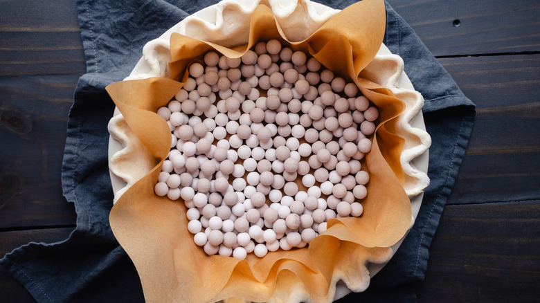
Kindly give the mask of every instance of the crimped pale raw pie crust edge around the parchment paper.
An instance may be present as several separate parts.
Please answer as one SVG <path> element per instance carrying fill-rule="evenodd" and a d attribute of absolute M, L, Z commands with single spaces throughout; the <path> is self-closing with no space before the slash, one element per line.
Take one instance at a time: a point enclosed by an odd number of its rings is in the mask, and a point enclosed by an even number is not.
<path fill-rule="evenodd" d="M 170 76 L 170 71 L 167 68 L 167 63 L 171 60 L 168 54 L 170 47 L 168 37 L 172 33 L 181 33 L 190 37 L 197 36 L 195 38 L 200 37 L 200 39 L 204 39 L 205 41 L 212 41 L 212 36 L 218 37 L 214 39 L 214 43 L 225 44 L 224 46 L 226 47 L 242 44 L 242 40 L 235 39 L 240 37 L 240 35 L 237 35 L 237 31 L 244 31 L 245 28 L 235 26 L 232 29 L 227 29 L 228 23 L 226 20 L 231 18 L 235 20 L 251 19 L 251 13 L 253 13 L 257 4 L 240 3 L 239 1 L 222 1 L 216 6 L 206 8 L 192 15 L 192 17 L 186 18 L 177 24 L 177 26 L 168 30 L 159 39 L 145 46 L 143 58 L 138 62 L 134 71 L 132 71 L 132 74 L 126 80 Z M 277 22 L 282 26 L 283 32 L 286 33 L 285 35 L 287 35 L 287 29 L 291 29 L 291 33 L 289 34 L 291 36 L 290 39 L 296 41 L 305 39 L 324 24 L 325 21 L 339 12 L 318 3 L 308 1 L 300 1 L 298 4 L 270 1 L 270 3 L 265 4 L 272 8 Z M 300 13 L 303 13 L 303 15 Z M 303 17 L 291 17 L 298 14 Z M 280 23 L 280 20 L 282 23 Z M 308 24 L 305 32 L 300 33 L 302 35 L 297 33 L 296 30 L 292 30 L 295 26 L 298 26 L 298 22 Z M 242 24 L 242 22 L 239 23 Z M 201 37 L 201 35 L 206 36 Z M 231 37 L 235 37 L 235 39 L 231 39 Z M 289 38 L 288 35 L 287 37 Z M 390 89 L 394 95 L 406 104 L 404 112 L 398 118 L 399 122 L 397 122 L 397 125 L 399 127 L 396 129 L 396 134 L 405 139 L 403 152 L 399 160 L 404 171 L 404 191 L 411 199 L 411 214 L 414 219 L 422 203 L 422 191 L 429 184 L 426 171 L 428 162 L 427 149 L 429 148 L 431 139 L 425 131 L 422 112 L 420 111 L 423 105 L 422 96 L 414 91 L 411 82 L 404 74 L 402 60 L 395 55 L 391 55 L 388 48 L 384 45 L 381 45 L 375 58 L 363 69 L 360 76 L 366 77 L 371 82 Z M 129 129 L 123 116 L 118 113 L 119 111 L 116 111 L 114 118 L 111 119 L 109 124 L 109 131 L 111 133 L 109 144 L 109 156 L 111 160 L 109 161 L 109 167 L 111 169 L 111 182 L 115 192 L 115 201 L 118 201 L 120 196 L 129 190 L 129 187 L 132 187 L 138 180 L 148 174 L 156 165 L 156 162 L 152 160 L 147 162 L 134 160 L 151 159 L 152 157 L 149 156 L 148 150 Z M 411 226 L 413 221 L 411 220 Z M 377 260 L 378 263 L 368 264 L 368 275 L 375 275 L 384 266 L 403 239 L 404 237 L 391 246 L 390 254 L 387 254 L 383 260 Z M 361 291 L 364 286 L 367 287 L 363 285 L 353 290 Z M 341 297 L 348 291 L 345 286 L 338 283 L 334 298 Z"/>

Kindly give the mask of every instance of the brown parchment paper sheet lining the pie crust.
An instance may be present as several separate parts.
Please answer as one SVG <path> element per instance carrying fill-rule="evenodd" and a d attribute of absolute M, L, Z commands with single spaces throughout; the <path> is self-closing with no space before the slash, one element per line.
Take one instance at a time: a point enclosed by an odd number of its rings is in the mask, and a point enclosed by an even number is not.
<path fill-rule="evenodd" d="M 384 1 L 364 0 L 337 13 L 303 41 L 287 39 L 265 3 L 251 15 L 249 41 L 224 46 L 172 34 L 168 77 L 116 82 L 107 91 L 138 138 L 135 159 L 157 163 L 129 187 L 111 210 L 111 228 L 132 258 L 141 277 L 147 302 L 331 302 L 335 285 L 343 280 L 352 291 L 369 284 L 366 262 L 388 261 L 389 248 L 411 224 L 411 205 L 404 190 L 401 163 L 405 140 L 398 136 L 398 117 L 406 108 L 391 89 L 361 71 L 372 62 L 385 30 Z M 359 218 L 331 219 L 328 229 L 307 248 L 269 252 L 246 260 L 208 256 L 187 230 L 186 206 L 154 194 L 153 188 L 170 149 L 170 130 L 156 110 L 182 86 L 186 68 L 200 62 L 208 50 L 240 57 L 254 44 L 280 39 L 294 50 L 312 54 L 337 75 L 357 83 L 379 108 L 372 152 L 363 167 L 370 174 L 368 196 L 361 201 Z"/>

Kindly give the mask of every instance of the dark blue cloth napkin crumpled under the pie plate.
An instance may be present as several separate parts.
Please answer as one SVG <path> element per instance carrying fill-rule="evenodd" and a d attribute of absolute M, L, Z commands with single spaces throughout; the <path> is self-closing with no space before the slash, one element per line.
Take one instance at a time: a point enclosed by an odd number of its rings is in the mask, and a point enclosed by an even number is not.
<path fill-rule="evenodd" d="M 352 0 L 318 1 L 343 9 Z M 113 194 L 107 167 L 107 123 L 114 104 L 105 86 L 129 75 L 147 41 L 181 19 L 217 1 L 77 1 L 87 74 L 75 90 L 69 113 L 62 187 L 75 203 L 77 227 L 54 244 L 30 243 L 10 252 L 0 264 L 38 302 L 143 302 L 132 261 L 109 226 Z M 415 302 L 414 283 L 423 279 L 429 245 L 453 187 L 474 122 L 474 104 L 438 64 L 413 30 L 386 4 L 385 44 L 405 62 L 405 71 L 424 95 L 424 120 L 433 143 L 431 185 L 413 229 L 393 259 L 365 293 L 339 302 Z"/>

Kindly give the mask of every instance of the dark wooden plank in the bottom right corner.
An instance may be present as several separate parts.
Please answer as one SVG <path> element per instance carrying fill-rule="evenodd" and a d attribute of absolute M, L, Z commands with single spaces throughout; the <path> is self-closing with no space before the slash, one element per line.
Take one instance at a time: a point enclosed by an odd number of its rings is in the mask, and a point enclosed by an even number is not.
<path fill-rule="evenodd" d="M 418 302 L 538 302 L 539 202 L 444 208 Z"/>

